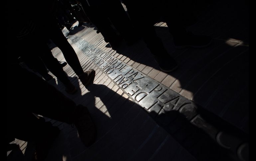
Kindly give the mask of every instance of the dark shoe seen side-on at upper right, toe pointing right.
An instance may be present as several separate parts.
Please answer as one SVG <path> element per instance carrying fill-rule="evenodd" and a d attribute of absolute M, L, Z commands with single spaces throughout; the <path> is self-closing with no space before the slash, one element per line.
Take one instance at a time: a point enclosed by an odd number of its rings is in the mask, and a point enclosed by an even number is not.
<path fill-rule="evenodd" d="M 192 32 L 187 32 L 173 40 L 175 48 L 178 49 L 185 47 L 202 48 L 208 46 L 211 43 L 212 38 L 209 36 L 194 35 Z"/>

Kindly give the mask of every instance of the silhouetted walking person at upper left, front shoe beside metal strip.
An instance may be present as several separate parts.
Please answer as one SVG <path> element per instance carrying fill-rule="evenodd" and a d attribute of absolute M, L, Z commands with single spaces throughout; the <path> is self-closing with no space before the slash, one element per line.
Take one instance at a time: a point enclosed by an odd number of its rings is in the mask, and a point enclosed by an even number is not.
<path fill-rule="evenodd" d="M 52 55 L 47 46 L 48 39 L 62 50 L 65 60 L 84 86 L 91 82 L 95 71 L 93 69 L 83 71 L 74 49 L 59 28 L 54 17 L 56 1 L 45 1 L 40 3 L 40 7 L 34 5 L 35 3 L 31 1 L 17 1 L 12 5 L 14 12 L 8 14 L 9 19 L 18 17 L 19 24 L 18 28 L 10 26 L 13 40 L 16 39 L 17 48 L 21 50 L 22 57 L 40 56 L 46 67 L 64 84 L 65 91 L 73 94 L 77 90 L 69 81 L 59 61 Z M 28 45 L 30 49 L 27 48 Z"/>

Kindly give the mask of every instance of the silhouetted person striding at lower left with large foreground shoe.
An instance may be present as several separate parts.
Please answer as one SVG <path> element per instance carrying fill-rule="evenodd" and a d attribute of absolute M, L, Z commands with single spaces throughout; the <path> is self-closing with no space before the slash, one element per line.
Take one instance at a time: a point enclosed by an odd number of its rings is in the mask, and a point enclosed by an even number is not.
<path fill-rule="evenodd" d="M 35 142 L 36 150 L 34 159 L 43 161 L 47 157 L 60 130 L 45 119 L 38 119 L 34 114 L 74 124 L 85 146 L 90 146 L 95 141 L 96 128 L 86 107 L 76 106 L 72 100 L 34 73 L 22 68 L 13 60 L 8 61 L 7 145 L 14 138 L 32 141 Z M 16 74 L 12 73 L 13 70 Z"/>

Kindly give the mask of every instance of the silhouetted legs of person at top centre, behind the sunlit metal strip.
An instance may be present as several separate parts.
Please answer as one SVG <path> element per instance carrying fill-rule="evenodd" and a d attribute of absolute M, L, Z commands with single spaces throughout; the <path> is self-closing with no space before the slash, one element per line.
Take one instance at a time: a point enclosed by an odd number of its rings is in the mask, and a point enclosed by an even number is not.
<path fill-rule="evenodd" d="M 134 28 L 119 0 L 79 0 L 85 14 L 113 49 L 124 39 L 128 45 L 135 40 Z M 114 28 L 113 28 L 114 27 Z"/>

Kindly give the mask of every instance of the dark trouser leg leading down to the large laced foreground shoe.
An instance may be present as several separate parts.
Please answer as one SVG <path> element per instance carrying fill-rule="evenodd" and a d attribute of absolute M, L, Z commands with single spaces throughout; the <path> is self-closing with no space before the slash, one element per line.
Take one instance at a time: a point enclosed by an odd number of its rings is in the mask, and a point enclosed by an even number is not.
<path fill-rule="evenodd" d="M 9 72 L 12 70 L 15 70 L 15 75 Z M 76 105 L 54 86 L 18 65 L 9 68 L 7 74 L 7 97 L 15 99 L 14 109 L 72 123 Z"/>

